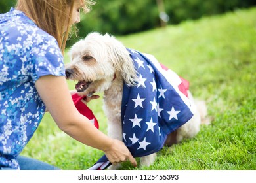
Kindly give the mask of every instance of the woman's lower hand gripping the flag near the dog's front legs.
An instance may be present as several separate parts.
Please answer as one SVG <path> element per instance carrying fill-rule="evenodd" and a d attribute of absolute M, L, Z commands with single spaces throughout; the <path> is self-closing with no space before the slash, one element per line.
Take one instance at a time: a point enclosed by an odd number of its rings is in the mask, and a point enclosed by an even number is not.
<path fill-rule="evenodd" d="M 137 162 L 135 158 L 131 155 L 131 152 L 121 141 L 113 139 L 112 145 L 109 150 L 104 151 L 108 160 L 113 164 L 121 163 L 129 160 L 133 167 L 137 167 Z"/>

